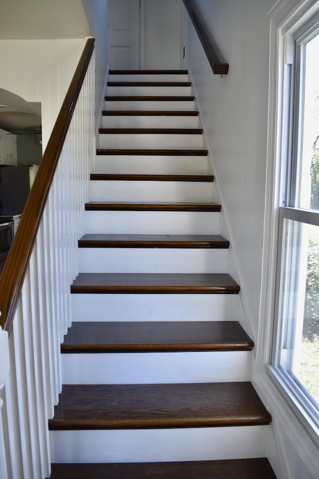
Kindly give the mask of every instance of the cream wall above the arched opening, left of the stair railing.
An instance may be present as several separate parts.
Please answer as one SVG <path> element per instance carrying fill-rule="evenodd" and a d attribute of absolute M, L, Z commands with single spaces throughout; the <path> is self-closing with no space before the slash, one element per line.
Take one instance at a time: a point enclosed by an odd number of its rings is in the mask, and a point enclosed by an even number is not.
<path fill-rule="evenodd" d="M 1 88 L 41 102 L 43 152 L 84 44 L 84 39 L 0 40 Z"/>

